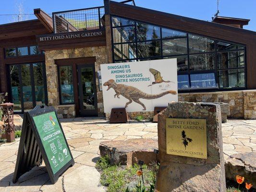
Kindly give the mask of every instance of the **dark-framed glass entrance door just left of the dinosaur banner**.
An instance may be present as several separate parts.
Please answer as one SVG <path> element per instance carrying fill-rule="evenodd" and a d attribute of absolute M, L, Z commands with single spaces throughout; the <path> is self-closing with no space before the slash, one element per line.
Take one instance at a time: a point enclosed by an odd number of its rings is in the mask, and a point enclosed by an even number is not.
<path fill-rule="evenodd" d="M 98 116 L 94 65 L 77 65 L 81 116 Z"/>

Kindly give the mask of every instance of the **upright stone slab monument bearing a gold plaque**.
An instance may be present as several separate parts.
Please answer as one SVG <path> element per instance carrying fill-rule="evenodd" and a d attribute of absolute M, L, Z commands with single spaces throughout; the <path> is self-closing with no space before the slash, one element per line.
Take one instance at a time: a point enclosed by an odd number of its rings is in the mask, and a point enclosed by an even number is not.
<path fill-rule="evenodd" d="M 156 192 L 225 192 L 221 111 L 213 103 L 171 102 L 158 115 Z"/>

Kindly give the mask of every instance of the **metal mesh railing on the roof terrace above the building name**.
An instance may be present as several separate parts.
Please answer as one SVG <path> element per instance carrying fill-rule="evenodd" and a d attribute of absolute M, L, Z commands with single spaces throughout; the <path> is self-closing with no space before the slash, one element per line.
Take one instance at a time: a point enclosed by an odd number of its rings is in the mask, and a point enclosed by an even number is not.
<path fill-rule="evenodd" d="M 85 31 L 102 28 L 101 18 L 104 7 L 94 7 L 65 12 L 53 12 L 53 26 L 55 33 Z"/>

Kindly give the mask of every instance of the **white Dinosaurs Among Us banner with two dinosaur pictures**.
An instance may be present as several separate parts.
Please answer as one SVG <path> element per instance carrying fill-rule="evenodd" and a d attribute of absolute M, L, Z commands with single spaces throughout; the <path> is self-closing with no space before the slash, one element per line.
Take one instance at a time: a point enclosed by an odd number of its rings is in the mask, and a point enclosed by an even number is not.
<path fill-rule="evenodd" d="M 148 60 L 101 64 L 104 112 L 153 111 L 178 101 L 177 60 Z"/>

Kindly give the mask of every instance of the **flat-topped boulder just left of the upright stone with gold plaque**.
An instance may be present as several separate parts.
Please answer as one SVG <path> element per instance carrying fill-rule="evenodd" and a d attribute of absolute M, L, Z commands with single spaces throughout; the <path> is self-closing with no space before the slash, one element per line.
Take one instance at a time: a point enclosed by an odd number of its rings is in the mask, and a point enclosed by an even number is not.
<path fill-rule="evenodd" d="M 154 149 L 158 149 L 158 141 L 155 139 L 105 141 L 99 144 L 100 156 L 108 155 L 112 165 L 131 166 L 139 160 L 148 165 L 157 161 Z"/>

